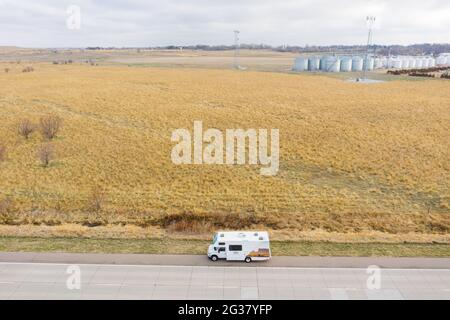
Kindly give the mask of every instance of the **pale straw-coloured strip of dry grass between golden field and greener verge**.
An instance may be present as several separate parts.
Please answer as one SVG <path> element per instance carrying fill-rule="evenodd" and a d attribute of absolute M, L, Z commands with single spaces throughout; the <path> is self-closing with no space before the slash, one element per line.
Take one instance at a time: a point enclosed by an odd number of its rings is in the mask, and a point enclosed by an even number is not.
<path fill-rule="evenodd" d="M 273 241 L 307 241 L 332 243 L 442 243 L 450 244 L 450 234 L 390 234 L 379 231 L 359 233 L 327 232 L 323 230 L 269 230 Z M 201 233 L 173 233 L 157 226 L 146 228 L 135 225 L 107 225 L 91 228 L 79 224 L 59 226 L 46 225 L 0 225 L 0 238 L 80 238 L 80 239 L 176 239 L 210 241 L 211 230 Z"/>

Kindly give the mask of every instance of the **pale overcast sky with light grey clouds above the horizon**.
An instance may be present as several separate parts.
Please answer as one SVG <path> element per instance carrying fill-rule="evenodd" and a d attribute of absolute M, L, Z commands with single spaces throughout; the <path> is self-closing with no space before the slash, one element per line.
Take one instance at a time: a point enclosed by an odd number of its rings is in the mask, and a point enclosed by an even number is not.
<path fill-rule="evenodd" d="M 367 15 L 377 44 L 450 43 L 449 0 L 0 0 L 0 45 L 232 44 L 235 29 L 242 43 L 363 44 Z"/>

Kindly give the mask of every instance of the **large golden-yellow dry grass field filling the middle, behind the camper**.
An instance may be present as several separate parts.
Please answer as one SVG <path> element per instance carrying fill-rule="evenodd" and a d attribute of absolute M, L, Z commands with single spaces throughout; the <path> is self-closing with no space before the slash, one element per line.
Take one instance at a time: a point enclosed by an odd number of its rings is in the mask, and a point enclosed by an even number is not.
<path fill-rule="evenodd" d="M 23 64 L 24 65 L 24 64 Z M 450 230 L 448 81 L 370 86 L 226 70 L 0 64 L 3 223 L 175 224 L 217 214 L 278 230 Z M 0 70 L 1 70 L 0 69 Z M 17 134 L 20 119 L 63 119 L 56 161 Z M 171 132 L 278 128 L 278 176 L 250 166 L 175 166 Z M 91 213 L 92 190 L 105 204 Z M 5 210 L 6 212 L 6 210 Z M 167 214 L 176 215 L 174 219 Z M 199 217 L 198 219 L 192 217 Z M 178 219 L 178 220 L 177 220 Z M 89 224 L 89 223 L 88 223 Z"/>

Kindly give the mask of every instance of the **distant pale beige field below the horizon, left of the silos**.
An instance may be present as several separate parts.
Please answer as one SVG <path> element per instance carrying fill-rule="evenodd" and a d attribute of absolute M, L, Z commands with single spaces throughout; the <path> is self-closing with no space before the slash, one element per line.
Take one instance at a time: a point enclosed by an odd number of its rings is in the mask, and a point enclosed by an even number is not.
<path fill-rule="evenodd" d="M 249 70 L 286 72 L 297 54 L 270 50 L 241 50 L 239 63 Z M 103 66 L 230 69 L 234 51 L 202 50 L 49 50 L 0 47 L 0 61 L 93 61 Z"/>

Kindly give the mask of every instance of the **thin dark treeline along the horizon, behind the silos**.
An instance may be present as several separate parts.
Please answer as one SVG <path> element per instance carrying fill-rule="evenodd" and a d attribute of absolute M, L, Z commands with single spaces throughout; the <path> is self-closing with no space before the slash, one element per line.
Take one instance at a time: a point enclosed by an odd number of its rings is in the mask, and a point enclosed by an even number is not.
<path fill-rule="evenodd" d="M 241 49 L 250 50 L 273 50 L 277 52 L 329 52 L 329 53 L 361 53 L 366 51 L 363 45 L 333 45 L 333 46 L 270 46 L 266 44 L 241 44 Z M 203 51 L 225 51 L 233 50 L 234 45 L 191 45 L 191 46 L 160 46 L 160 47 L 140 47 L 140 48 L 115 48 L 115 47 L 88 47 L 87 50 L 120 50 L 120 49 L 136 49 L 136 50 L 203 50 Z M 373 45 L 371 52 L 379 55 L 438 55 L 444 52 L 450 52 L 450 43 L 445 44 L 413 44 L 408 46 L 401 45 Z"/>

